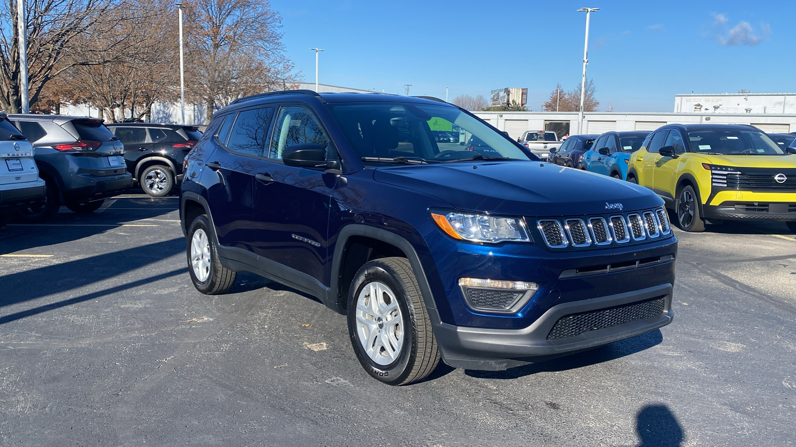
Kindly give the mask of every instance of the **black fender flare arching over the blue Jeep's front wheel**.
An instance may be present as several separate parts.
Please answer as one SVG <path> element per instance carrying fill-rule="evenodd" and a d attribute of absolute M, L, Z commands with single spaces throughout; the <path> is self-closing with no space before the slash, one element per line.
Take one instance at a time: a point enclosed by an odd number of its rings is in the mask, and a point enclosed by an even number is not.
<path fill-rule="evenodd" d="M 343 249 L 345 249 L 345 244 L 352 236 L 365 236 L 377 239 L 392 244 L 398 247 L 400 251 L 403 251 L 409 263 L 412 265 L 412 270 L 417 278 L 417 284 L 420 286 L 420 292 L 423 293 L 423 302 L 426 305 L 426 309 L 428 309 L 431 321 L 433 322 L 435 319 L 439 321 L 439 314 L 436 310 L 437 305 L 434 301 L 434 296 L 431 294 L 431 286 L 428 284 L 425 270 L 423 270 L 423 265 L 420 263 L 420 258 L 417 255 L 417 251 L 415 251 L 415 247 L 412 247 L 412 243 L 409 243 L 407 239 L 404 239 L 400 235 L 396 235 L 392 231 L 384 230 L 384 228 L 370 227 L 369 225 L 361 225 L 359 223 L 350 223 L 342 227 L 338 234 L 338 239 L 334 247 L 334 257 L 332 258 L 330 301 L 337 302 L 338 305 L 342 306 L 342 309 L 345 309 L 345 300 L 348 299 L 348 295 L 345 294 L 345 296 L 341 297 L 340 290 L 338 289 L 340 288 L 339 282 Z M 338 300 L 338 297 L 341 297 L 342 301 Z"/>

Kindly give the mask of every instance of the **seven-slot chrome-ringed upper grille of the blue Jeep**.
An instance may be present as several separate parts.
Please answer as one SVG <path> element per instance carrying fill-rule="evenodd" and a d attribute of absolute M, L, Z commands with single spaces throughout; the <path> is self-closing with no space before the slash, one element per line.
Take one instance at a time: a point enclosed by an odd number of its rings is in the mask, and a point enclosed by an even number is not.
<path fill-rule="evenodd" d="M 556 249 L 641 243 L 672 234 L 664 208 L 613 216 L 540 219 L 537 229 L 544 243 Z"/>

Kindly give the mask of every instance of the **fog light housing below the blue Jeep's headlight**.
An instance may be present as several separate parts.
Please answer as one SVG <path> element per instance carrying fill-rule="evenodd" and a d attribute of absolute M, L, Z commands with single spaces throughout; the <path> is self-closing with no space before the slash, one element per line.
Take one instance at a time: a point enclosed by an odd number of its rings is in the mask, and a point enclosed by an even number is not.
<path fill-rule="evenodd" d="M 489 313 L 517 313 L 539 290 L 535 282 L 459 278 L 458 286 L 470 309 Z"/>

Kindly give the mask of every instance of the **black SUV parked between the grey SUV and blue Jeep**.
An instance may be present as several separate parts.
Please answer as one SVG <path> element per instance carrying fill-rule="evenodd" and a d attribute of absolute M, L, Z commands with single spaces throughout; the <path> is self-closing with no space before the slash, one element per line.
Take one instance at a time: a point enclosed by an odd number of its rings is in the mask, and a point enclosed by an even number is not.
<path fill-rule="evenodd" d="M 141 189 L 154 197 L 166 196 L 182 180 L 182 161 L 199 138 L 197 126 L 108 123 L 107 128 L 124 144 L 127 171 Z"/>

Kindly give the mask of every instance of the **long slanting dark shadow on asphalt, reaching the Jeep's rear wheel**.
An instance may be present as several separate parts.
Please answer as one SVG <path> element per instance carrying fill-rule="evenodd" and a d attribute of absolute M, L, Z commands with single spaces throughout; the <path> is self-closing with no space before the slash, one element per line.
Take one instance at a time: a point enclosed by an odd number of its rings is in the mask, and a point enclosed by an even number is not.
<path fill-rule="evenodd" d="M 125 250 L 113 251 L 103 255 L 61 262 L 51 266 L 43 266 L 33 270 L 6 274 L 0 276 L 0 283 L 2 283 L 3 290 L 2 296 L 0 296 L 0 308 L 24 301 L 35 300 L 40 297 L 46 297 L 54 293 L 62 293 L 68 290 L 80 290 L 96 282 L 119 277 L 131 270 L 150 266 L 154 262 L 184 252 L 185 239 L 180 237 L 158 243 L 140 245 Z M 97 299 L 122 290 L 143 286 L 163 278 L 185 274 L 187 271 L 187 267 L 183 266 L 160 274 L 154 274 L 150 277 L 139 279 L 138 281 L 123 282 L 123 284 L 119 284 L 118 286 L 103 287 L 102 290 L 96 292 L 84 293 L 68 300 L 41 305 L 33 309 L 0 317 L 0 324 L 72 305 L 81 301 Z"/>

